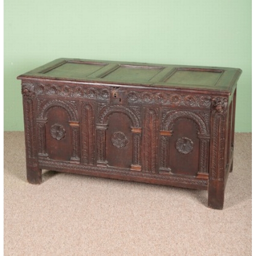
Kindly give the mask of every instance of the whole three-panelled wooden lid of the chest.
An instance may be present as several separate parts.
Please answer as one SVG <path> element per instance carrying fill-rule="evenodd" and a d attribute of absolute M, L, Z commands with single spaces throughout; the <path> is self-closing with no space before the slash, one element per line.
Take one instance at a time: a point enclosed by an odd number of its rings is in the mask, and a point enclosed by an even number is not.
<path fill-rule="evenodd" d="M 234 68 L 60 58 L 17 78 L 231 93 L 241 73 L 240 69 Z"/>

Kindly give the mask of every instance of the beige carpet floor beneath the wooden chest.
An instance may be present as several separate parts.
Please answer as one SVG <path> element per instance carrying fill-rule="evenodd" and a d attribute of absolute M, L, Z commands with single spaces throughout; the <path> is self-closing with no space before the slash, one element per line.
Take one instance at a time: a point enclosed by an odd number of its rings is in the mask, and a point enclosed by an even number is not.
<path fill-rule="evenodd" d="M 4 255 L 251 255 L 251 134 L 236 133 L 223 210 L 207 191 L 45 172 L 4 134 Z"/>

